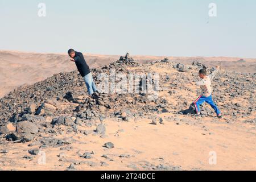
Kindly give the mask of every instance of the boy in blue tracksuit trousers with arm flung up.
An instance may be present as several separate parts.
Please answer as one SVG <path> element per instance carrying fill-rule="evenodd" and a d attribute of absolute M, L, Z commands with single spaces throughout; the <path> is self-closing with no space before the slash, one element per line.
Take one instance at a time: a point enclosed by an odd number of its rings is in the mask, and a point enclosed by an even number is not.
<path fill-rule="evenodd" d="M 217 117 L 222 118 L 221 111 L 218 109 L 218 107 L 216 106 L 216 104 L 214 104 L 212 100 L 212 82 L 211 81 L 216 76 L 219 69 L 220 67 L 217 66 L 216 69 L 208 76 L 207 76 L 206 69 L 200 69 L 199 71 L 199 77 L 202 80 L 199 82 L 196 82 L 196 85 L 201 86 L 202 92 L 201 92 L 201 96 L 199 96 L 199 98 L 197 98 L 197 100 L 193 102 L 193 104 L 196 107 L 197 115 L 200 115 L 200 105 L 204 104 L 204 102 L 207 102 L 207 104 L 209 104 L 214 109 L 215 113 L 217 114 Z"/>

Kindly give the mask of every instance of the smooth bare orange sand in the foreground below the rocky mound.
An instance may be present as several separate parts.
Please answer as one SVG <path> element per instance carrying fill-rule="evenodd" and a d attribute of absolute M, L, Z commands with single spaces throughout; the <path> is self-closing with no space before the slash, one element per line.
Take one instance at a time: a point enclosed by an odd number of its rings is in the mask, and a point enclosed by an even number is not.
<path fill-rule="evenodd" d="M 170 115 L 168 115 L 170 116 Z M 28 150 L 37 148 L 25 144 L 10 144 L 8 154 L 1 154 L 5 170 L 65 170 L 71 163 L 94 162 L 96 166 L 80 164 L 79 170 L 143 170 L 145 164 L 180 166 L 183 170 L 255 170 L 255 126 L 241 123 L 225 123 L 208 118 L 189 123 L 166 121 L 164 125 L 151 125 L 149 119 L 133 123 L 105 121 L 107 137 L 94 135 L 70 135 L 76 142 L 71 151 L 46 148 L 46 164 L 40 164 L 40 155 L 23 159 Z M 64 136 L 62 136 L 64 137 Z M 67 137 L 67 135 L 65 135 Z M 102 147 L 113 142 L 114 148 Z M 4 149 L 0 146 L 0 150 Z M 77 152 L 94 152 L 92 159 L 80 158 Z M 209 164 L 210 152 L 216 152 L 217 164 Z M 64 152 L 64 157 L 59 154 Z M 102 158 L 102 155 L 110 159 Z M 130 155 L 120 158 L 120 155 Z M 113 160 L 113 161 L 112 161 Z M 109 166 L 100 166 L 101 162 Z"/>

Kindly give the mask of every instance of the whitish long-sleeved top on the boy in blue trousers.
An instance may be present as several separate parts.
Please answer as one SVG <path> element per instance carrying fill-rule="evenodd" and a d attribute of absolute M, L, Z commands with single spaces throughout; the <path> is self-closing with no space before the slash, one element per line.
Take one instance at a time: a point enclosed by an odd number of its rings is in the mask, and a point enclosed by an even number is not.
<path fill-rule="evenodd" d="M 205 77 L 199 82 L 196 82 L 196 85 L 201 86 L 201 96 L 209 97 L 212 94 L 212 80 L 217 75 L 218 69 L 215 69 L 210 75 Z"/>

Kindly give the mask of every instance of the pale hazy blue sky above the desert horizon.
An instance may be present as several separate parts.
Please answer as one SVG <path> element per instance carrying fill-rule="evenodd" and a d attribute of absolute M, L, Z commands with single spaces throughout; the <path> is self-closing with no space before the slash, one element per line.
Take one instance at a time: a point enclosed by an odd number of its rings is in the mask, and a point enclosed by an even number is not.
<path fill-rule="evenodd" d="M 255 0 L 0 0 L 0 20 L 0 49 L 256 57 Z"/>

